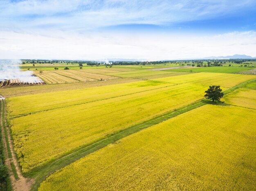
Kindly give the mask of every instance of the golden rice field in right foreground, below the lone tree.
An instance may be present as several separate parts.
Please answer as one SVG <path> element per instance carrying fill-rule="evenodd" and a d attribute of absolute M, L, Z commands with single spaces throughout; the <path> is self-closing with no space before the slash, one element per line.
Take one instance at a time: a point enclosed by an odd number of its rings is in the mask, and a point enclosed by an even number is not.
<path fill-rule="evenodd" d="M 72 163 L 39 191 L 255 190 L 255 124 L 255 110 L 204 105 Z"/>

